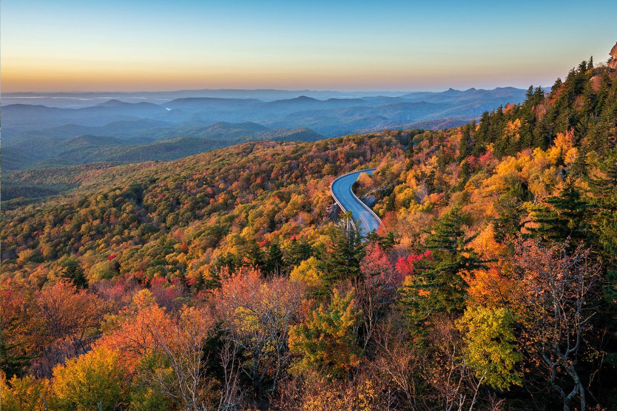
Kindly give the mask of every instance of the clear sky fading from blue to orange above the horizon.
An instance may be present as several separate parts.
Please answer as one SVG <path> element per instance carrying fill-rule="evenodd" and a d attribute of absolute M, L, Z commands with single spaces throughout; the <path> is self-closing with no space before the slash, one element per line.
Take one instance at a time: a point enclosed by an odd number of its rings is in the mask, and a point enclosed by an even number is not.
<path fill-rule="evenodd" d="M 617 41 L 617 1 L 3 0 L 16 91 L 550 86 Z"/>

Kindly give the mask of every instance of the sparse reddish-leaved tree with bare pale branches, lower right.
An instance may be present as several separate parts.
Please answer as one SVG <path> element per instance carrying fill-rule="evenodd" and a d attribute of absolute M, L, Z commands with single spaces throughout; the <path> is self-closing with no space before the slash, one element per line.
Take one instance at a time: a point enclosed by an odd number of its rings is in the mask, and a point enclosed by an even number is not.
<path fill-rule="evenodd" d="M 523 344 L 569 411 L 577 398 L 587 404 L 582 372 L 592 366 L 584 347 L 597 311 L 600 266 L 589 249 L 566 244 L 543 246 L 528 240 L 511 258 L 517 280 L 515 311 L 523 324 Z M 584 366 L 585 365 L 585 366 Z M 594 372 L 590 370 L 589 372 Z"/>

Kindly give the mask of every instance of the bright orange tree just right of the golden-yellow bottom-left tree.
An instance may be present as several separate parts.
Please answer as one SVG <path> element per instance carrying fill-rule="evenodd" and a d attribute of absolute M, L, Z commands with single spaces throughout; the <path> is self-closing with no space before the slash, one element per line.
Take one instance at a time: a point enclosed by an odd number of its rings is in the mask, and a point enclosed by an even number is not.
<path fill-rule="evenodd" d="M 171 315 L 149 290 L 135 294 L 131 306 L 115 318 L 97 346 L 122 352 L 120 368 L 170 404 L 189 411 L 207 409 L 212 391 L 204 346 L 214 319 L 205 309 L 183 307 Z M 144 393 L 139 393 L 142 396 Z"/>

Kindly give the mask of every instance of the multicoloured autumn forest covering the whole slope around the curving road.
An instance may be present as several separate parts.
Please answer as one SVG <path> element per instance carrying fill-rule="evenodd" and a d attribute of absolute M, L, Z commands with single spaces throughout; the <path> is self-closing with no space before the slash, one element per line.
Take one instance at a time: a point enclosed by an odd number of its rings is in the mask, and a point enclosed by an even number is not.
<path fill-rule="evenodd" d="M 616 135 L 590 59 L 459 128 L 31 172 L 70 190 L 2 203 L 2 409 L 615 410 Z"/>

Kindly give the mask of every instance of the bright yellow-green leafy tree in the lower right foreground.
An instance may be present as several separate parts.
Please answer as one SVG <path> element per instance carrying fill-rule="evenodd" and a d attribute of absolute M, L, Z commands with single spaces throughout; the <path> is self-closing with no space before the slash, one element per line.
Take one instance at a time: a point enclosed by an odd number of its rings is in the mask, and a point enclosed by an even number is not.
<path fill-rule="evenodd" d="M 515 370 L 523 356 L 516 346 L 514 322 L 508 309 L 470 306 L 457 323 L 464 335 L 463 355 L 467 364 L 477 378 L 495 389 L 522 385 L 522 373 Z"/>

